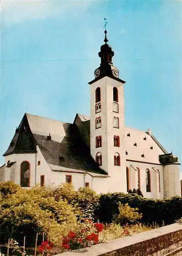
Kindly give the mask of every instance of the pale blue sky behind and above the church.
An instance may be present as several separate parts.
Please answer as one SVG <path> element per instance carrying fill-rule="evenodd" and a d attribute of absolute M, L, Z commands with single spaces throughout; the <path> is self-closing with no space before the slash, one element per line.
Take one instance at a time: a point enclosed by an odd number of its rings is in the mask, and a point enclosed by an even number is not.
<path fill-rule="evenodd" d="M 89 115 L 89 85 L 107 35 L 125 84 L 125 125 L 181 158 L 180 1 L 1 3 L 1 155 L 27 112 Z M 4 163 L 3 157 L 1 164 Z"/>

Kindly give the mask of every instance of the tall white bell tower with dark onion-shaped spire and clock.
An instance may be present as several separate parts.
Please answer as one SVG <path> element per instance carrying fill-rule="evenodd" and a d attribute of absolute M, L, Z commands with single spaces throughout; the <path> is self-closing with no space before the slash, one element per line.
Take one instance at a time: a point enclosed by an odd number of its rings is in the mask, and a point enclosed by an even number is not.
<path fill-rule="evenodd" d="M 124 140 L 124 83 L 113 66 L 114 52 L 107 44 L 101 46 L 100 67 L 90 81 L 90 152 L 110 176 L 110 192 L 126 191 L 126 156 Z"/>

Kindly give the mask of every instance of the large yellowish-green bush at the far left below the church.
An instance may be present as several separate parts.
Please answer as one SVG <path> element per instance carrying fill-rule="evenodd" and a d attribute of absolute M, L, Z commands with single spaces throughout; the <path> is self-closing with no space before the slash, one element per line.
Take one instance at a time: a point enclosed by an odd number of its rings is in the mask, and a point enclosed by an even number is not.
<path fill-rule="evenodd" d="M 0 200 L 0 240 L 7 242 L 12 238 L 22 244 L 26 236 L 26 245 L 34 245 L 37 232 L 44 232 L 46 238 L 50 231 L 52 242 L 59 243 L 61 236 L 77 224 L 77 210 L 49 194 L 50 189 L 45 187 L 20 188 L 16 194 Z"/>

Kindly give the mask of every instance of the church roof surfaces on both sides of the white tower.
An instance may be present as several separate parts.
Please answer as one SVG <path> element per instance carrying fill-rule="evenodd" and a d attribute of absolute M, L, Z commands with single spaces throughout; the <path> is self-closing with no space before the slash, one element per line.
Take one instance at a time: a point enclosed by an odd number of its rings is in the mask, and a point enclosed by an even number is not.
<path fill-rule="evenodd" d="M 85 115 L 77 114 L 72 124 L 26 113 L 4 155 L 33 153 L 38 145 L 55 171 L 86 171 L 108 177 L 90 155 L 89 133 L 89 117 Z M 158 156 L 167 153 L 153 135 L 129 127 L 125 127 L 125 144 L 127 160 L 160 164 Z"/>

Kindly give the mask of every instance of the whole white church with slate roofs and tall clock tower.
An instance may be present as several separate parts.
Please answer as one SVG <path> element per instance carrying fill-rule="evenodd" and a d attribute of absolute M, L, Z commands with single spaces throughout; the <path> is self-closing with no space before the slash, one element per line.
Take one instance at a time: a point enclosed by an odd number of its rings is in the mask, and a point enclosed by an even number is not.
<path fill-rule="evenodd" d="M 76 114 L 65 123 L 25 113 L 4 153 L 0 182 L 22 187 L 72 182 L 75 189 L 127 193 L 140 188 L 144 197 L 180 196 L 179 163 L 150 129 L 125 127 L 124 84 L 107 44 L 90 86 L 90 117 Z"/>

